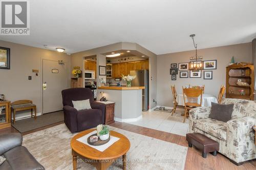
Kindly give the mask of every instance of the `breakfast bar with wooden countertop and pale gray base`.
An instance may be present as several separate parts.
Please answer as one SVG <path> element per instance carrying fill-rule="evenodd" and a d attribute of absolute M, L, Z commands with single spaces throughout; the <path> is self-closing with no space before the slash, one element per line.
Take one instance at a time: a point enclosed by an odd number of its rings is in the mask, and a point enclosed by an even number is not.
<path fill-rule="evenodd" d="M 107 100 L 115 102 L 117 122 L 135 122 L 142 117 L 142 89 L 144 88 L 144 86 L 97 87 L 97 100 L 99 101 L 102 94 Z"/>

